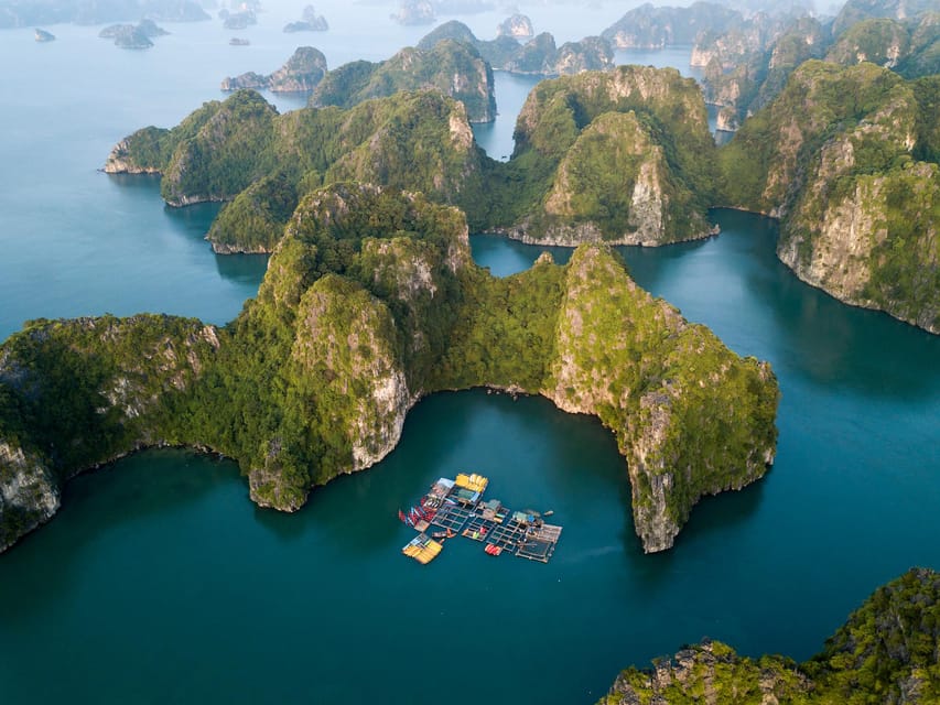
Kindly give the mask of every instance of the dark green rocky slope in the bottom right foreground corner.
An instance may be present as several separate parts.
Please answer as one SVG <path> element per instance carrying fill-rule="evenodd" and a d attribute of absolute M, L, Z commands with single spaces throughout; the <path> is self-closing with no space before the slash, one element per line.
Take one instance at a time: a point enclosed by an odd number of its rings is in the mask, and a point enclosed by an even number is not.
<path fill-rule="evenodd" d="M 803 663 L 737 655 L 705 640 L 623 671 L 598 705 L 907 703 L 940 699 L 940 575 L 911 568 L 879 587 L 823 651 Z"/>

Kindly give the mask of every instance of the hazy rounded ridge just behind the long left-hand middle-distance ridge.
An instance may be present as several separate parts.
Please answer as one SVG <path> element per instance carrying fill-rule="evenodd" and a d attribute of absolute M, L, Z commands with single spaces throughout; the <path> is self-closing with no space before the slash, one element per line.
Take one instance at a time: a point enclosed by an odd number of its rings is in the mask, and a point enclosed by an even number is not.
<path fill-rule="evenodd" d="M 311 105 L 352 108 L 399 90 L 439 90 L 463 101 L 471 122 L 496 119 L 493 69 L 473 46 L 453 40 L 442 40 L 428 50 L 403 48 L 376 64 L 345 64 L 326 75 Z"/>

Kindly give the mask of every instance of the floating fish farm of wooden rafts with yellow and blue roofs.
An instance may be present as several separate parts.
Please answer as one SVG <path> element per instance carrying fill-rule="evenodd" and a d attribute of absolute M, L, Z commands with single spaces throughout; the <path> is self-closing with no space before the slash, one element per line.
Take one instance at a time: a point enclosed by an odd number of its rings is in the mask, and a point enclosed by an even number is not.
<path fill-rule="evenodd" d="M 512 553 L 520 558 L 548 563 L 554 554 L 562 528 L 544 523 L 539 512 L 529 509 L 511 511 L 498 500 L 484 502 L 483 491 L 488 482 L 479 475 L 437 480 L 422 497 L 420 509 L 412 508 L 415 520 L 410 523 L 406 520 L 420 533 L 402 549 L 402 553 L 428 563 L 437 556 L 446 539 L 464 536 L 485 544 L 490 555 Z M 432 533 L 433 539 L 424 533 L 431 527 L 440 528 Z M 421 551 L 418 546 L 430 551 Z"/>

